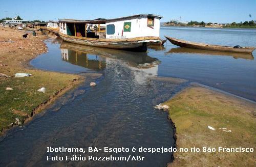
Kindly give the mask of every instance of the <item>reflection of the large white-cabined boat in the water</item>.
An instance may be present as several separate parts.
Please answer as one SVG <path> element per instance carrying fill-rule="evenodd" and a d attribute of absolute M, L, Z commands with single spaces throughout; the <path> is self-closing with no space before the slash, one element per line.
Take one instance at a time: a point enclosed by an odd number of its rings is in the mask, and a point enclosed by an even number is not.
<path fill-rule="evenodd" d="M 149 57 L 146 52 L 135 53 L 68 42 L 62 42 L 60 49 L 63 60 L 88 69 L 105 69 L 113 59 L 119 61 L 123 66 L 132 70 L 137 84 L 145 83 L 148 75 L 156 76 L 158 74 L 160 61 L 156 58 Z M 106 70 L 108 70 L 108 68 Z"/>

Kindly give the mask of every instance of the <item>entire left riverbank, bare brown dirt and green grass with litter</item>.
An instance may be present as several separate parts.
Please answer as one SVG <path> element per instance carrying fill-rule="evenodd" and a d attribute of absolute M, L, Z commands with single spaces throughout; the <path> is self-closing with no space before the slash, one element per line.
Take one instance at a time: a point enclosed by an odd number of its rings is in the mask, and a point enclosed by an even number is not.
<path fill-rule="evenodd" d="M 0 134 L 6 129 L 19 125 L 40 112 L 58 96 L 80 84 L 81 75 L 48 72 L 29 66 L 31 59 L 47 52 L 44 43 L 47 36 L 37 37 L 25 31 L 0 27 Z M 10 42 L 11 41 L 11 42 Z M 30 77 L 14 77 L 15 73 L 30 73 Z M 3 77 L 4 75 L 10 77 Z M 6 90 L 6 88 L 13 90 Z M 46 92 L 38 92 L 41 87 Z"/>

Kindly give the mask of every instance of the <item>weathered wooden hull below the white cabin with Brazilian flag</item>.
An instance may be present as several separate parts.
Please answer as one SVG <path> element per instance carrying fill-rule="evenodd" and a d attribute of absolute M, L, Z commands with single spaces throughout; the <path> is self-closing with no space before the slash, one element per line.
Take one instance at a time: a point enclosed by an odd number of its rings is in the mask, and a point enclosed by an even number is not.
<path fill-rule="evenodd" d="M 159 37 L 139 37 L 130 39 L 97 39 L 86 37 L 74 37 L 59 33 L 60 38 L 64 41 L 80 45 L 124 49 L 134 51 L 146 51 L 148 42 L 159 42 Z"/>

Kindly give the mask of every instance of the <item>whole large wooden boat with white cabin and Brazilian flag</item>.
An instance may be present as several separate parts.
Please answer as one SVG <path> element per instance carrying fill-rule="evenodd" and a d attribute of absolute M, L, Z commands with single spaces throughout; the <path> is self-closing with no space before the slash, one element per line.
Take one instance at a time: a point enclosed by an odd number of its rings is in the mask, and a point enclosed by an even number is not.
<path fill-rule="evenodd" d="M 59 19 L 59 36 L 76 44 L 146 51 L 150 43 L 162 42 L 159 37 L 161 18 L 158 15 L 139 14 L 115 19 Z M 91 27 L 95 27 L 94 31 L 91 31 Z"/>

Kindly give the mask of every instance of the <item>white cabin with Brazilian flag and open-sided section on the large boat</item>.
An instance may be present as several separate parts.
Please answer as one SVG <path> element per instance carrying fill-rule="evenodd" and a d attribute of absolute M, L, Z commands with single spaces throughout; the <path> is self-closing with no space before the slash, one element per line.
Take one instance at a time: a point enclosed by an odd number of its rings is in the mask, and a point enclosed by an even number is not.
<path fill-rule="evenodd" d="M 59 19 L 59 32 L 75 37 L 128 39 L 159 37 L 162 16 L 139 14 L 115 19 Z"/>

